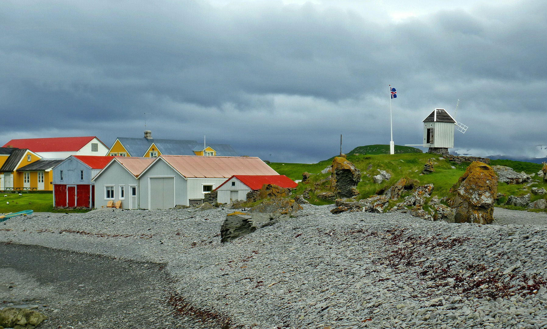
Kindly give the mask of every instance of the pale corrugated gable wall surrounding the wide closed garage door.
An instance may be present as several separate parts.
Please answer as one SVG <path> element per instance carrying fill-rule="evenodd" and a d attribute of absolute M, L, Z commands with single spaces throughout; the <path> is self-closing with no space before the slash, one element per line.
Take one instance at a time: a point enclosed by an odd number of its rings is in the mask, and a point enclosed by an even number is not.
<path fill-rule="evenodd" d="M 162 160 L 156 161 L 152 167 L 150 167 L 144 175 L 139 177 L 139 192 L 138 198 L 140 200 L 140 207 L 143 209 L 149 209 L 148 205 L 148 183 L 149 177 L 154 176 L 174 176 L 174 197 L 176 205 L 189 205 L 187 197 L 187 181 L 174 171 L 168 164 Z M 150 196 L 151 198 L 153 195 Z"/>

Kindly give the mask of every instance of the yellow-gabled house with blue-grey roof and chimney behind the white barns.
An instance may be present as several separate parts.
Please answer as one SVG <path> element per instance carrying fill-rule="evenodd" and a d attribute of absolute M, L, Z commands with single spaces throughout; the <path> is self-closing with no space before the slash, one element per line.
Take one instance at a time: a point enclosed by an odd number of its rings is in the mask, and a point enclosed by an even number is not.
<path fill-rule="evenodd" d="M 144 131 L 143 138 L 118 137 L 106 155 L 121 157 L 157 158 L 160 155 L 205 155 L 208 157 L 237 157 L 228 144 L 198 143 L 197 141 L 152 138 L 152 131 Z"/>

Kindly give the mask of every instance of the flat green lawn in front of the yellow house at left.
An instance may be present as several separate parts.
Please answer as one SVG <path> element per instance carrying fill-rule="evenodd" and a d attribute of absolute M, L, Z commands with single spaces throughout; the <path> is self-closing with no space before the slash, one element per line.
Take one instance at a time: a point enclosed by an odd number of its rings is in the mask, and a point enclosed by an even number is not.
<path fill-rule="evenodd" d="M 54 210 L 53 193 L 18 193 L 0 192 L 0 212 L 18 212 L 34 210 L 36 212 L 86 212 L 88 210 Z M 8 195 L 4 197 L 4 195 Z M 9 202 L 9 204 L 7 204 Z"/>

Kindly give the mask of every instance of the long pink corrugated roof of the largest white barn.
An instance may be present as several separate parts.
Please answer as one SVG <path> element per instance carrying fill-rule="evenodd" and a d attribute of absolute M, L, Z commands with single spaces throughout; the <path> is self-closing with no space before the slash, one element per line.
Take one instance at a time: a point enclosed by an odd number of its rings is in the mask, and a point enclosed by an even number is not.
<path fill-rule="evenodd" d="M 229 178 L 234 175 L 279 175 L 256 157 L 200 157 L 161 155 L 168 164 L 187 178 Z"/>

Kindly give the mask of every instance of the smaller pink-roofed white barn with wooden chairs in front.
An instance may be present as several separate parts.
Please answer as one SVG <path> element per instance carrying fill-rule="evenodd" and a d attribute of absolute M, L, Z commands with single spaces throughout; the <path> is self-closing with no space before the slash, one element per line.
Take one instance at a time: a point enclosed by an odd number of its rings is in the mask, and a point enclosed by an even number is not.
<path fill-rule="evenodd" d="M 95 207 L 106 206 L 108 201 L 115 204 L 121 200 L 124 209 L 140 209 L 138 177 L 154 158 L 114 157 L 92 179 L 95 183 Z"/>

